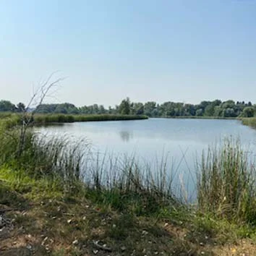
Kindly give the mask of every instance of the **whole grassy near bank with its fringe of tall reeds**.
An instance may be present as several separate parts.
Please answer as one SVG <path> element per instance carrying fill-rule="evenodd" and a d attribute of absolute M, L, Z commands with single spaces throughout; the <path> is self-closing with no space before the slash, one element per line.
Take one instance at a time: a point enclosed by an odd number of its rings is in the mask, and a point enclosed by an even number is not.
<path fill-rule="evenodd" d="M 90 155 L 85 141 L 0 132 L 1 255 L 253 255 L 255 169 L 239 144 L 209 149 L 198 163 L 197 202 L 174 195 L 134 158 Z M 182 189 L 181 189 L 182 190 Z"/>

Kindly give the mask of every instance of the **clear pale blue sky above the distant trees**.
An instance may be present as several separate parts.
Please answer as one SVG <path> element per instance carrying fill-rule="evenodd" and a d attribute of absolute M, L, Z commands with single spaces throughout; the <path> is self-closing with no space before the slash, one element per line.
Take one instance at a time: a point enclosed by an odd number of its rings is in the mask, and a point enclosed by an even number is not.
<path fill-rule="evenodd" d="M 255 0 L 0 0 L 0 98 L 256 103 Z"/>

